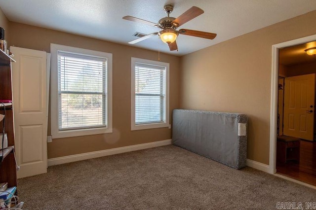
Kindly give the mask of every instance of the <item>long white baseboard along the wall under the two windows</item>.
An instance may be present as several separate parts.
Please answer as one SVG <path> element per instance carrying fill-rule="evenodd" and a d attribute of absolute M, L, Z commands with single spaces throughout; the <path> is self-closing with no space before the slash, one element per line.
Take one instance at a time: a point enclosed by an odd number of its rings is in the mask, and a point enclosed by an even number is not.
<path fill-rule="evenodd" d="M 131 151 L 136 151 L 136 150 L 141 150 L 141 149 L 148 149 L 148 148 L 164 146 L 168 144 L 171 144 L 171 140 L 160 140 L 160 141 L 154 141 L 150 143 L 142 143 L 142 144 L 124 146 L 124 147 L 113 148 L 113 149 L 106 149 L 106 150 L 95 151 L 95 152 L 87 152 L 87 153 L 82 153 L 82 154 L 77 154 L 77 155 L 51 158 L 51 159 L 48 159 L 48 166 L 71 163 L 71 162 L 76 162 L 80 160 L 98 158 L 98 157 L 103 157 L 103 156 L 108 156 L 108 155 L 115 155 L 119 153 L 131 152 Z"/>

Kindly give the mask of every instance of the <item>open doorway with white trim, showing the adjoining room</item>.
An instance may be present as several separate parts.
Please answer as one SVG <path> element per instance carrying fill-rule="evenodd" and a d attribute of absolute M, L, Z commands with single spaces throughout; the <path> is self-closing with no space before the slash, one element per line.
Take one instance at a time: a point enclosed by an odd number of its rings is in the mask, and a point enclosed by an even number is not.
<path fill-rule="evenodd" d="M 270 173 L 316 186 L 316 57 L 305 52 L 315 40 L 273 46 Z"/>

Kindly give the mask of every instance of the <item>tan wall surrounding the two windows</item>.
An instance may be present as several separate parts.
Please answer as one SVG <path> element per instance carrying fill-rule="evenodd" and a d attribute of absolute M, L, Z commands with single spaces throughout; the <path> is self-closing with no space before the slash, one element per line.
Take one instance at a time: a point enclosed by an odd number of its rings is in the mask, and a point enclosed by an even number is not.
<path fill-rule="evenodd" d="M 50 43 L 56 43 L 113 54 L 113 133 L 54 139 L 47 144 L 48 158 L 171 139 L 168 128 L 130 131 L 131 57 L 157 61 L 158 52 L 14 22 L 9 23 L 9 28 L 10 44 L 17 47 L 50 52 Z M 170 64 L 171 119 L 171 111 L 179 107 L 180 58 L 160 54 L 160 61 Z"/>

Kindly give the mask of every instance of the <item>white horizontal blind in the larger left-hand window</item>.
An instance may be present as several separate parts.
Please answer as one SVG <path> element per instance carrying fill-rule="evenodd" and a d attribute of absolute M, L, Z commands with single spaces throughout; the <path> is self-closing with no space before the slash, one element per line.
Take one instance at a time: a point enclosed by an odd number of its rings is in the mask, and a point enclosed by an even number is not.
<path fill-rule="evenodd" d="M 58 51 L 59 130 L 107 126 L 107 60 Z"/>

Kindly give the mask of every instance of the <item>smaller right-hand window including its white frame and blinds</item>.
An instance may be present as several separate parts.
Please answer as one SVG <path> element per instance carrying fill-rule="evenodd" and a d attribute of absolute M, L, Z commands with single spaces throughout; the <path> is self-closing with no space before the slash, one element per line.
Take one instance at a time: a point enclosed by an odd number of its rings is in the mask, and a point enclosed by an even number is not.
<path fill-rule="evenodd" d="M 169 126 L 169 64 L 131 59 L 131 130 Z"/>

